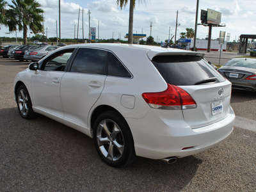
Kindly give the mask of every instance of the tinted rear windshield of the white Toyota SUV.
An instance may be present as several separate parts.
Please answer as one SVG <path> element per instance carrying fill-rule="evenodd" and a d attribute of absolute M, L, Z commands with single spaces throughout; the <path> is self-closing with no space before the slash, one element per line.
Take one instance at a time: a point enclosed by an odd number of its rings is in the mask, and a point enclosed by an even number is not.
<path fill-rule="evenodd" d="M 193 85 L 205 79 L 214 79 L 212 83 L 225 81 L 209 63 L 200 56 L 155 56 L 152 59 L 166 83 L 175 85 Z"/>

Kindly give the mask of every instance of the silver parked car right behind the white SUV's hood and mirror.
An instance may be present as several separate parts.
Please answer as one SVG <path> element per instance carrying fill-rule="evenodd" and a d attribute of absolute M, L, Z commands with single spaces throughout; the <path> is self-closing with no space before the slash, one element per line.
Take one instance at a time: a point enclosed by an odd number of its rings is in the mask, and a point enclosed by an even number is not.
<path fill-rule="evenodd" d="M 51 45 L 45 45 L 36 47 L 36 49 L 33 49 L 33 51 L 29 51 L 29 60 L 31 61 L 39 61 L 42 58 L 44 58 L 47 54 L 54 51 L 55 49 L 58 49 L 58 46 L 51 46 Z M 28 52 L 26 53 L 27 58 Z"/>

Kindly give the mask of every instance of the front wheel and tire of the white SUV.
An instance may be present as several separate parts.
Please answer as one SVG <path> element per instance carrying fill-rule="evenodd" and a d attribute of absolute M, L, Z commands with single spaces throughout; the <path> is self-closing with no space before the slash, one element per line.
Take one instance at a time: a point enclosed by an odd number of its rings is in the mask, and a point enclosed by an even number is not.
<path fill-rule="evenodd" d="M 20 85 L 16 92 L 16 102 L 19 113 L 23 118 L 32 119 L 35 117 L 32 102 L 28 90 L 24 84 Z"/>

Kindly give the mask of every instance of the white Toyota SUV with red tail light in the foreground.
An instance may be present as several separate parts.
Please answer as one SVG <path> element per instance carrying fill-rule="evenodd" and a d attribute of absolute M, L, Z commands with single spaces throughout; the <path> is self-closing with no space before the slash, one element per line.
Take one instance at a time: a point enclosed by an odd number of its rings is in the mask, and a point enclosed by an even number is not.
<path fill-rule="evenodd" d="M 174 163 L 227 138 L 231 83 L 198 52 L 129 44 L 61 47 L 15 77 L 19 113 L 53 118 L 94 140 L 109 165 Z"/>

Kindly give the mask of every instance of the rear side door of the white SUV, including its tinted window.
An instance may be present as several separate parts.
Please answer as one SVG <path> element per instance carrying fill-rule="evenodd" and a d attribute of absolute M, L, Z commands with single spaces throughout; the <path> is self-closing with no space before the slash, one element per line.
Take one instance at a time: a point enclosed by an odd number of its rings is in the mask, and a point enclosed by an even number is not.
<path fill-rule="evenodd" d="M 106 79 L 108 52 L 81 48 L 61 79 L 61 103 L 64 118 L 88 127 L 88 113 L 99 99 Z"/>

